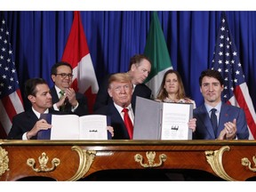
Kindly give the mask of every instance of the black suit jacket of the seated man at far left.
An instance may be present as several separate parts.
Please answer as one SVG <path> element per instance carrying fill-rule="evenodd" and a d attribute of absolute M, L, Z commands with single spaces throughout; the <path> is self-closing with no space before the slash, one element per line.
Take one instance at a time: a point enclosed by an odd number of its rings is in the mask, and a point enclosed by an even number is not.
<path fill-rule="evenodd" d="M 63 114 L 63 112 L 55 111 L 49 108 L 51 114 Z M 38 121 L 36 114 L 30 108 L 28 111 L 21 112 L 20 114 L 13 116 L 12 128 L 7 135 L 7 140 L 22 140 L 24 132 L 29 132 Z M 36 140 L 36 136 L 31 140 Z"/>

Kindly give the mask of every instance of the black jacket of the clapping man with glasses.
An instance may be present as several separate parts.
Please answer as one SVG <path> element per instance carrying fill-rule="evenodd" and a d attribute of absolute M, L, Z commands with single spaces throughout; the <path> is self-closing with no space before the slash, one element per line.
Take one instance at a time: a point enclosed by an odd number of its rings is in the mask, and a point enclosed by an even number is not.
<path fill-rule="evenodd" d="M 58 93 L 55 89 L 55 87 L 53 86 L 51 88 L 51 95 L 52 95 L 52 104 L 55 104 L 56 102 L 58 102 L 59 96 Z M 79 105 L 76 108 L 76 110 L 74 111 L 74 113 L 71 111 L 72 106 L 70 105 L 70 103 L 67 103 L 67 110 L 65 112 L 67 112 L 68 114 L 76 114 L 77 116 L 86 116 L 89 114 L 89 110 L 88 110 L 88 105 L 87 105 L 87 98 L 84 96 L 84 94 L 80 93 L 80 92 L 76 92 L 76 100 L 78 101 Z M 53 107 L 52 107 L 53 109 Z"/>

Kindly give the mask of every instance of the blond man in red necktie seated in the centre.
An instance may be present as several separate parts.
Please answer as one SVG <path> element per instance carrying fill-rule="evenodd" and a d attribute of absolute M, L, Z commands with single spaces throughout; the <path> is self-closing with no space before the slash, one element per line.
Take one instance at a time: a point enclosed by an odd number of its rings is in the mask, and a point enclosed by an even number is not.
<path fill-rule="evenodd" d="M 132 140 L 134 114 L 132 110 L 132 80 L 127 73 L 116 73 L 108 79 L 108 94 L 114 102 L 99 108 L 94 114 L 111 120 L 115 136 L 112 140 Z"/>

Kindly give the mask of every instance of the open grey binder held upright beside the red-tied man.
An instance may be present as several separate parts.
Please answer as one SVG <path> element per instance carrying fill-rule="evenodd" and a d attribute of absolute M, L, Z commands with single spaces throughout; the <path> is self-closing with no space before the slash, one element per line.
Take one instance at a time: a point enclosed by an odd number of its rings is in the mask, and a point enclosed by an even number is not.
<path fill-rule="evenodd" d="M 188 121 L 192 103 L 165 103 L 136 98 L 133 140 L 192 140 Z"/>

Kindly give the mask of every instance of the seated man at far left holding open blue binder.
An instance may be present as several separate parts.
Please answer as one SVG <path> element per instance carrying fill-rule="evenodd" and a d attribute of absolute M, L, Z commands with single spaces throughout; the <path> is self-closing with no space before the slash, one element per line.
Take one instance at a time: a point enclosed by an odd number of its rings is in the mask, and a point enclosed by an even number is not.
<path fill-rule="evenodd" d="M 28 79 L 25 84 L 25 94 L 32 108 L 13 117 L 12 128 L 7 136 L 8 140 L 36 140 L 37 132 L 52 127 L 52 124 L 40 119 L 40 115 L 60 113 L 51 109 L 52 96 L 44 79 Z"/>

